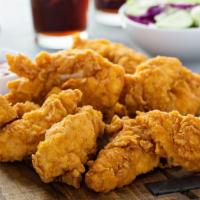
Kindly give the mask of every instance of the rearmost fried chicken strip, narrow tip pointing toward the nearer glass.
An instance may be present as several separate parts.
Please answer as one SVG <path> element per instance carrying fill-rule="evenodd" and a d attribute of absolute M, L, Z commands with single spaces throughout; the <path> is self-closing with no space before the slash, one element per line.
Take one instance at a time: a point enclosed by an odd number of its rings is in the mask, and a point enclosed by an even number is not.
<path fill-rule="evenodd" d="M 134 73 L 136 66 L 144 62 L 147 57 L 135 52 L 123 44 L 113 43 L 105 39 L 82 40 L 79 36 L 74 37 L 75 49 L 92 49 L 109 61 L 124 67 L 126 73 Z"/>

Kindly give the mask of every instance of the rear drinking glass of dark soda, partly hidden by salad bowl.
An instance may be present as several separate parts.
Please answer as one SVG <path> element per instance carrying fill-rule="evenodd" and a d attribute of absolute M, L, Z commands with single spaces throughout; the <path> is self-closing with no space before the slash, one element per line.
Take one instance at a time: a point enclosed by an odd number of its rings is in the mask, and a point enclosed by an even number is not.
<path fill-rule="evenodd" d="M 118 9 L 125 2 L 126 0 L 95 0 L 96 20 L 105 25 L 120 26 Z"/>

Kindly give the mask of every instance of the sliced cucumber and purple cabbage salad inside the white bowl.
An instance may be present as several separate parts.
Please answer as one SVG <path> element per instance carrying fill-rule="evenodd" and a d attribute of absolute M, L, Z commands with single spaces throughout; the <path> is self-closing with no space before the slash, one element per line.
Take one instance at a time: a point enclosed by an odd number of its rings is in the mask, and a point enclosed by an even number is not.
<path fill-rule="evenodd" d="M 200 1 L 187 3 L 129 0 L 125 13 L 134 22 L 159 28 L 200 27 Z"/>

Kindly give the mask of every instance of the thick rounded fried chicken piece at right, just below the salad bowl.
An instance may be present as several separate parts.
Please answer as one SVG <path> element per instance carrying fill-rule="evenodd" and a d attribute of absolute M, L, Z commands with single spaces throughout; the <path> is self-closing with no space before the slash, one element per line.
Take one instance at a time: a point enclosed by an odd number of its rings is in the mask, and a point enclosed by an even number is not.
<path fill-rule="evenodd" d="M 200 113 L 200 75 L 171 57 L 156 57 L 125 76 L 120 103 L 129 114 L 137 110 L 178 110 L 182 114 Z"/>

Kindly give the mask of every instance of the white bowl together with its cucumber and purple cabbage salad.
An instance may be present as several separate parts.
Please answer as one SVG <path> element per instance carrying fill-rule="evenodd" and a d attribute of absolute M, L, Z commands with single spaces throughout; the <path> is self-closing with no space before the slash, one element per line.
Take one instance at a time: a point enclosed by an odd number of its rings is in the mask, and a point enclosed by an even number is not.
<path fill-rule="evenodd" d="M 122 26 L 149 55 L 200 63 L 200 0 L 128 0 Z"/>

